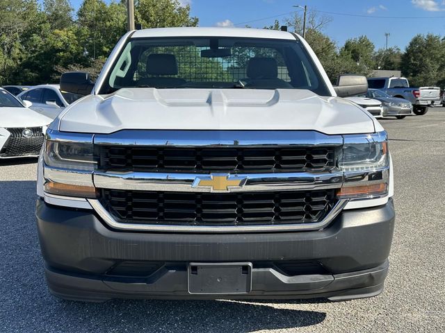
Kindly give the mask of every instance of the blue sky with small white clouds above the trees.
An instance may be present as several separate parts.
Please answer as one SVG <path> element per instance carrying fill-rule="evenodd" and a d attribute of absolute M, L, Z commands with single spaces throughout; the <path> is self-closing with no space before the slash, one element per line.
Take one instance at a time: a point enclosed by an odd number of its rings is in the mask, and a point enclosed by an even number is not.
<path fill-rule="evenodd" d="M 78 8 L 82 0 L 71 0 Z M 377 48 L 385 46 L 385 33 L 390 33 L 389 46 L 404 49 L 417 33 L 445 35 L 445 0 L 180 0 L 191 5 L 191 15 L 200 19 L 200 26 L 244 26 L 261 28 L 280 22 L 298 8 L 323 11 L 332 18 L 324 33 L 332 37 L 339 46 L 350 37 L 367 35 Z M 330 14 L 342 13 L 346 16 Z M 386 17 L 423 17 L 386 18 Z M 440 17 L 440 18 L 433 18 Z"/>

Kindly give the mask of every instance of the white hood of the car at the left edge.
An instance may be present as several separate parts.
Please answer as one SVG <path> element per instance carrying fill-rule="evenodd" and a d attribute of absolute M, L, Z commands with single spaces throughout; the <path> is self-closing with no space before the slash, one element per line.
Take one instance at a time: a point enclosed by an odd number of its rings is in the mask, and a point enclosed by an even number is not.
<path fill-rule="evenodd" d="M 47 126 L 52 119 L 28 108 L 0 108 L 0 127 Z"/>

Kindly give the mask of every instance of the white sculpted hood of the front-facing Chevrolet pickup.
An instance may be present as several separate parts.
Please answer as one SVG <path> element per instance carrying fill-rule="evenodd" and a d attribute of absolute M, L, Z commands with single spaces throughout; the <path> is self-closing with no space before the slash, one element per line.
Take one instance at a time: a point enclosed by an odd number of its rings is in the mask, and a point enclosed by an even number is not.
<path fill-rule="evenodd" d="M 380 102 L 379 102 L 380 103 Z M 373 133 L 367 112 L 338 97 L 300 89 L 125 88 L 92 95 L 60 114 L 67 132 L 145 130 L 317 130 L 325 134 Z"/>

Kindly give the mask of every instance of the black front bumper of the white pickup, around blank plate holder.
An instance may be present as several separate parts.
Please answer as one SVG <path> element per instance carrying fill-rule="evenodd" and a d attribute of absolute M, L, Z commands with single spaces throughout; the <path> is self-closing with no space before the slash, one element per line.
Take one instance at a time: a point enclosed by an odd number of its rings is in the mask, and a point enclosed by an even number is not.
<path fill-rule="evenodd" d="M 90 211 L 51 206 L 40 199 L 36 215 L 49 289 L 75 300 L 375 296 L 383 289 L 394 232 L 392 200 L 343 211 L 325 230 L 309 232 L 118 232 Z M 189 262 L 252 262 L 252 291 L 192 295 Z M 146 276 L 116 271 L 122 263 L 133 268 L 149 263 L 154 269 Z M 291 264 L 294 273 L 282 271 L 282 264 Z"/>

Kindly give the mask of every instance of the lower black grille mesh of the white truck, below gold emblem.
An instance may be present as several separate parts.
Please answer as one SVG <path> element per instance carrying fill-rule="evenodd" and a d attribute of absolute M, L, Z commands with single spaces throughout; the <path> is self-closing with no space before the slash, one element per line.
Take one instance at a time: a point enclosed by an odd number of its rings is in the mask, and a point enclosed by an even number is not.
<path fill-rule="evenodd" d="M 189 193 L 102 189 L 104 207 L 123 223 L 248 225 L 316 223 L 334 205 L 334 190 Z"/>

